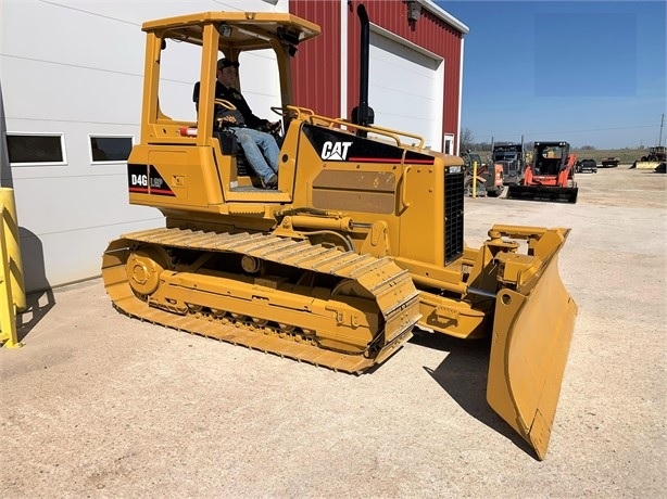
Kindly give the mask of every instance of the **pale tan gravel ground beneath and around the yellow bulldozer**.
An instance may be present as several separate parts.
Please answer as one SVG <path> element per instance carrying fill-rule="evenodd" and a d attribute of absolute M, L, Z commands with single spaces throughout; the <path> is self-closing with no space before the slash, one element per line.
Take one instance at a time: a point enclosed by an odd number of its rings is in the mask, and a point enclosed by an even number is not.
<path fill-rule="evenodd" d="M 575 205 L 470 199 L 571 227 L 579 305 L 546 459 L 484 400 L 486 342 L 417 334 L 351 376 L 124 317 L 101 280 L 30 295 L 0 349 L 0 496 L 664 497 L 665 175 L 581 174 Z M 28 263 L 29 265 L 29 263 Z"/>

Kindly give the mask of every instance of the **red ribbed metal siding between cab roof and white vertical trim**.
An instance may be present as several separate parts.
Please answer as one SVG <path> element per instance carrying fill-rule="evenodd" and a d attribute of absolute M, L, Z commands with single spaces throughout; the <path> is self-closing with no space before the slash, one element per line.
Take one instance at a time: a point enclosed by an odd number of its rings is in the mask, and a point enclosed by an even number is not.
<path fill-rule="evenodd" d="M 340 2 L 338 0 L 290 0 L 290 14 L 318 24 L 322 34 L 299 47 L 292 60 L 297 105 L 325 116 L 340 108 Z"/>

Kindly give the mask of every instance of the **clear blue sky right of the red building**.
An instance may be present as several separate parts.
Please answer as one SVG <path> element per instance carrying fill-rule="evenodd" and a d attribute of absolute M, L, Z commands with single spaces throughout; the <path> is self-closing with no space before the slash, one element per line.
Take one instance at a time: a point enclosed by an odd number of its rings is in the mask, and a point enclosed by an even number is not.
<path fill-rule="evenodd" d="M 464 23 L 474 142 L 667 144 L 667 1 L 435 1 Z"/>

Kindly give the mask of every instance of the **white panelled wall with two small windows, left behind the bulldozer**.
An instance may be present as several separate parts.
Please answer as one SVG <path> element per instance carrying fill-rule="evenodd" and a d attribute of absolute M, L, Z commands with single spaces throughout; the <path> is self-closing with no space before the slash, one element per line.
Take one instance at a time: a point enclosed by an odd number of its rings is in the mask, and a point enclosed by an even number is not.
<path fill-rule="evenodd" d="M 14 189 L 27 291 L 99 276 L 110 240 L 163 223 L 158 210 L 128 204 L 125 163 L 89 158 L 90 133 L 139 138 L 141 24 L 209 10 L 288 10 L 287 0 L 272 3 L 0 0 L 1 181 Z M 246 98 L 264 117 L 279 103 L 277 79 L 266 76 L 270 59 L 242 61 Z M 184 59 L 183 67 L 198 63 Z M 171 76 L 177 113 L 186 115 L 175 117 L 193 118 L 194 80 L 187 72 Z M 64 133 L 66 165 L 10 167 L 5 132 Z"/>

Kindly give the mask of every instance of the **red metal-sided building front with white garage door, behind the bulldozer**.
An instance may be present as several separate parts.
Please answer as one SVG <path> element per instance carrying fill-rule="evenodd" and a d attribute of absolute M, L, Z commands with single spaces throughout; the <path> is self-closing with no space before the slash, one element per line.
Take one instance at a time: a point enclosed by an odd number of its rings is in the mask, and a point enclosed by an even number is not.
<path fill-rule="evenodd" d="M 290 0 L 291 14 L 322 27 L 293 61 L 297 102 L 350 117 L 358 104 L 358 0 Z M 467 26 L 430 0 L 363 2 L 370 20 L 369 105 L 375 124 L 423 135 L 457 153 Z M 451 142 L 450 142 L 451 141 Z"/>

